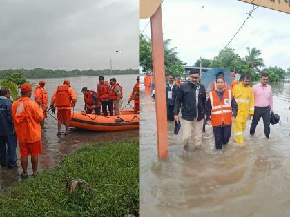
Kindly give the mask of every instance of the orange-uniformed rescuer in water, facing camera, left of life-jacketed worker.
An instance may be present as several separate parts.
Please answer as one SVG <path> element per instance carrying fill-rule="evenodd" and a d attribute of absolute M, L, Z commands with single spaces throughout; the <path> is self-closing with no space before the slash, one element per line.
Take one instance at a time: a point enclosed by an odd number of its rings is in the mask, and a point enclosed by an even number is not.
<path fill-rule="evenodd" d="M 47 118 L 46 110 L 48 109 L 48 93 L 46 90 L 45 81 L 39 81 L 39 86 L 35 87 L 35 102 L 39 105 L 39 107 L 42 107 L 43 110 L 43 121 L 40 122 L 41 129 L 44 129 L 44 119 Z"/>

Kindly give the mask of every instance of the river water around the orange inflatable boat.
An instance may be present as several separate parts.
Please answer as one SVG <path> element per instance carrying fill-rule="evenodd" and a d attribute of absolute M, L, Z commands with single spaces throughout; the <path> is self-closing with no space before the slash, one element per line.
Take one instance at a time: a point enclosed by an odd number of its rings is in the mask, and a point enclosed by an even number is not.
<path fill-rule="evenodd" d="M 106 80 L 112 77 L 117 79 L 117 83 L 123 87 L 123 106 L 124 107 L 130 97 L 133 85 L 136 83 L 137 75 L 119 75 L 119 76 L 104 76 Z M 82 87 L 88 87 L 89 90 L 97 89 L 98 76 L 84 76 L 68 78 L 70 85 L 77 93 L 77 105 L 75 111 L 81 111 L 84 109 L 83 94 L 81 93 Z M 31 83 L 39 83 L 40 79 L 30 79 Z M 52 94 L 55 93 L 58 85 L 61 85 L 64 79 L 45 79 L 46 89 L 48 90 L 48 103 L 50 103 Z M 133 103 L 133 101 L 131 102 Z M 49 104 L 48 104 L 49 105 Z M 130 107 L 126 107 L 129 109 Z M 57 116 L 55 116 L 57 117 Z M 70 129 L 71 134 L 64 136 L 61 134 L 57 137 L 57 121 L 55 121 L 50 114 L 46 119 L 46 130 L 42 133 L 42 146 L 43 153 L 39 156 L 39 170 L 54 167 L 59 160 L 74 152 L 79 147 L 87 143 L 99 143 L 104 141 L 119 140 L 124 136 L 130 138 L 139 138 L 139 130 L 126 130 L 121 132 L 90 132 L 86 130 Z M 62 126 L 64 131 L 64 126 Z M 17 145 L 17 158 L 20 165 L 19 147 Z M 18 169 L 0 168 L 0 194 L 5 191 L 7 187 L 14 185 L 21 181 L 20 174 L 22 172 L 21 167 Z M 31 163 L 28 163 L 28 174 L 32 174 Z"/>

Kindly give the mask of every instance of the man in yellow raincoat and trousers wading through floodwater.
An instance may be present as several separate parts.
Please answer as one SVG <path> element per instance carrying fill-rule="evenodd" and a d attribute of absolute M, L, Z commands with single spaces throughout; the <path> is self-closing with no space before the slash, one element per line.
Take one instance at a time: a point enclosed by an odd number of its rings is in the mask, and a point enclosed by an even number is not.
<path fill-rule="evenodd" d="M 238 103 L 238 115 L 233 122 L 233 132 L 237 143 L 244 143 L 244 130 L 246 129 L 247 121 L 251 120 L 254 114 L 254 94 L 249 86 L 251 77 L 245 75 L 242 83 L 233 87 L 233 96 Z"/>

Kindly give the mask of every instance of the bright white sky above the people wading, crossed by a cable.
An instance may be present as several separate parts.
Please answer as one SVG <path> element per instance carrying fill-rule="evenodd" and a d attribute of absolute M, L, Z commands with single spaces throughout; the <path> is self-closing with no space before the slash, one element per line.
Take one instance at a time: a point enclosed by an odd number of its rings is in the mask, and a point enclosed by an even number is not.
<path fill-rule="evenodd" d="M 204 8 L 202 8 L 204 6 Z M 213 59 L 231 40 L 253 5 L 238 0 L 165 0 L 162 4 L 164 39 L 172 39 L 179 57 L 193 65 L 202 56 Z M 230 47 L 241 57 L 247 47 L 261 50 L 266 67 L 290 67 L 290 14 L 257 8 Z M 144 30 L 148 19 L 140 21 Z M 144 31 L 150 35 L 150 24 Z"/>

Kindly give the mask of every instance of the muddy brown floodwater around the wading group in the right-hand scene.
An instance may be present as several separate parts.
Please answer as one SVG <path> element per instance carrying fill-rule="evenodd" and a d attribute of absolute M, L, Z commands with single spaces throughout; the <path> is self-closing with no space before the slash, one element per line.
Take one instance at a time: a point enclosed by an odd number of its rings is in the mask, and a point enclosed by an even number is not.
<path fill-rule="evenodd" d="M 168 123 L 166 160 L 157 158 L 154 100 L 142 92 L 142 216 L 290 216 L 290 83 L 272 89 L 281 122 L 271 125 L 270 139 L 261 118 L 253 137 L 249 121 L 244 147 L 232 136 L 217 152 L 212 128 L 206 126 L 202 149 L 186 152 L 182 132 L 175 136 Z"/>

